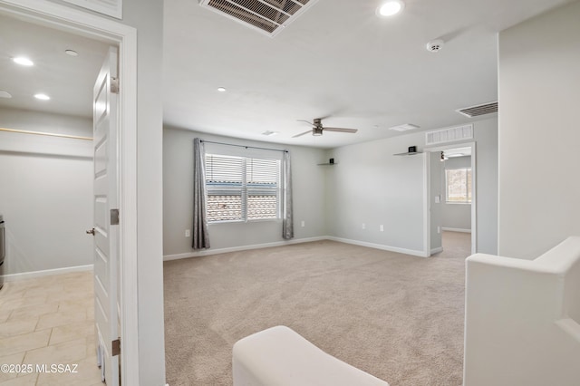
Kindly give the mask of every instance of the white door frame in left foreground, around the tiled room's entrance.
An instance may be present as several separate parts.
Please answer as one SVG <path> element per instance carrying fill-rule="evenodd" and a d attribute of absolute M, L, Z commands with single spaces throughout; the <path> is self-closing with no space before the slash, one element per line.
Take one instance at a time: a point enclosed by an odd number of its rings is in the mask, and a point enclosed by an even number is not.
<path fill-rule="evenodd" d="M 0 14 L 56 27 L 119 47 L 119 207 L 121 262 L 121 381 L 139 379 L 137 285 L 137 30 L 104 16 L 43 0 L 0 0 Z M 96 363 L 95 363 L 96 365 Z"/>

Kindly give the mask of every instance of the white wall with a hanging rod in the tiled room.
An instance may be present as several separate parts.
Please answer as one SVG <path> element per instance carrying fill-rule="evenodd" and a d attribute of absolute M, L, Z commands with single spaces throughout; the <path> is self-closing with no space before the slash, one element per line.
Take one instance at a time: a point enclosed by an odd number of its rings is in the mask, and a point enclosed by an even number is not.
<path fill-rule="evenodd" d="M 0 108 L 0 127 L 92 136 L 92 122 Z M 92 265 L 92 141 L 0 131 L 5 275 Z"/>

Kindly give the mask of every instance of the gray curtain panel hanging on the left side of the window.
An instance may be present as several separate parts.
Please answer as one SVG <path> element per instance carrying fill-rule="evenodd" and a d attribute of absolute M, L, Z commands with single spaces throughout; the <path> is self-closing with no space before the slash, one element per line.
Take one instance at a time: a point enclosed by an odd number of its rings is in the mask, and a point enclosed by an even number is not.
<path fill-rule="evenodd" d="M 206 150 L 198 138 L 193 140 L 193 249 L 209 247 L 206 192 Z"/>

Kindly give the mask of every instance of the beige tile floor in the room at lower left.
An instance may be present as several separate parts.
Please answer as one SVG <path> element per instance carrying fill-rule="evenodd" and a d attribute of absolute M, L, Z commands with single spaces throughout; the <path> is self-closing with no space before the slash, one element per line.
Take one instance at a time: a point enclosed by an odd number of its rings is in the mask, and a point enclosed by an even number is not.
<path fill-rule="evenodd" d="M 0 371 L 1 386 L 102 386 L 96 362 L 92 272 L 5 283 L 0 290 L 0 365 L 32 366 L 19 374 Z M 61 372 L 58 367 L 50 372 L 52 364 L 62 364 Z M 67 364 L 76 372 L 62 372 Z"/>

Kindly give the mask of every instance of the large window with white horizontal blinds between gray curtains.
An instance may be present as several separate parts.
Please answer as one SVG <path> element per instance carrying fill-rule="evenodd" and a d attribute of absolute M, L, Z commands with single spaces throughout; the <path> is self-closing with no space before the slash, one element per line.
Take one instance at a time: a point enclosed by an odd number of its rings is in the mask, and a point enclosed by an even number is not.
<path fill-rule="evenodd" d="M 280 218 L 281 160 L 206 154 L 208 222 Z"/>

